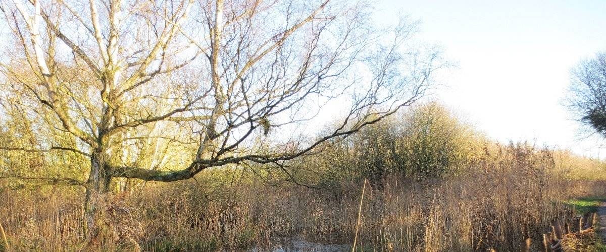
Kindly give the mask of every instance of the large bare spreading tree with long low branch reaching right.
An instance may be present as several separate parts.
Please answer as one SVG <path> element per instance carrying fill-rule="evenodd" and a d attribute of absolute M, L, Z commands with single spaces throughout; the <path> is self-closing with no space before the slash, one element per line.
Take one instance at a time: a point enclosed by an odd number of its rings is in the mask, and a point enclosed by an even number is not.
<path fill-rule="evenodd" d="M 444 67 L 435 48 L 409 43 L 413 24 L 375 28 L 364 6 L 347 2 L 0 6 L 13 35 L 12 57 L 0 62 L 2 101 L 36 121 L 40 141 L 1 149 L 86 158 L 85 180 L 32 179 L 84 186 L 89 225 L 113 178 L 170 182 L 229 164 L 280 166 L 415 102 Z M 331 101 L 344 119 L 305 137 L 296 126 Z"/>

